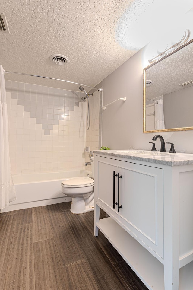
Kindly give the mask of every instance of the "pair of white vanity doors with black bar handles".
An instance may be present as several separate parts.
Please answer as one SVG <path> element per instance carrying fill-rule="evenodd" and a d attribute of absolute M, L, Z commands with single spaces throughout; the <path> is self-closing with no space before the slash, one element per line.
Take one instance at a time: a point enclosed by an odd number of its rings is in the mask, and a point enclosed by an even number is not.
<path fill-rule="evenodd" d="M 163 258 L 163 169 L 101 156 L 95 162 L 97 204 Z"/>

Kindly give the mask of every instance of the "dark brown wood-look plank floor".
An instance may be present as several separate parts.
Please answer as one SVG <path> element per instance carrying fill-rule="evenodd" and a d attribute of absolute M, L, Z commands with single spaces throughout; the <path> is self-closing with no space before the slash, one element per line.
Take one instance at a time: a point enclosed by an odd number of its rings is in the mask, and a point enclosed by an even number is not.
<path fill-rule="evenodd" d="M 94 237 L 93 212 L 73 215 L 69 202 L 0 214 L 0 289 L 147 290 L 104 235 Z"/>

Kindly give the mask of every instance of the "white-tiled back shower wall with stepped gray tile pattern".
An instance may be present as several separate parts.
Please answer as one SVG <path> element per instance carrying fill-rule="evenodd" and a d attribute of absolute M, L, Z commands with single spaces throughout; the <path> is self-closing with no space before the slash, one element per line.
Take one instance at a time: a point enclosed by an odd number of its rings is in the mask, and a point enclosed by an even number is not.
<path fill-rule="evenodd" d="M 84 94 L 5 81 L 13 174 L 83 169 Z"/>

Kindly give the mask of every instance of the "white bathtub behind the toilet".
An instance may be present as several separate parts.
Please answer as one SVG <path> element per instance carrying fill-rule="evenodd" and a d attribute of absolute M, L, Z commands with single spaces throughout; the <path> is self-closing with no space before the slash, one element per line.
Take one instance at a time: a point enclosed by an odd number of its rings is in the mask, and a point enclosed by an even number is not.
<path fill-rule="evenodd" d="M 91 177 L 87 170 L 15 174 L 13 182 L 17 200 L 10 202 L 1 212 L 71 201 L 61 191 L 62 180 L 87 174 Z"/>

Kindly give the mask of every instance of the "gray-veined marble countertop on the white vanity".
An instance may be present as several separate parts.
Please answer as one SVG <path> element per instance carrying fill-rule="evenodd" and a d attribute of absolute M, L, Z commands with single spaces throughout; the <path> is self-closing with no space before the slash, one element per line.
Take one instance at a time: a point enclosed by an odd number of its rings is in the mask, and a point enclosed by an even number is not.
<path fill-rule="evenodd" d="M 157 164 L 177 166 L 193 164 L 191 153 L 151 152 L 147 150 L 94 150 L 96 154 L 147 161 Z"/>

